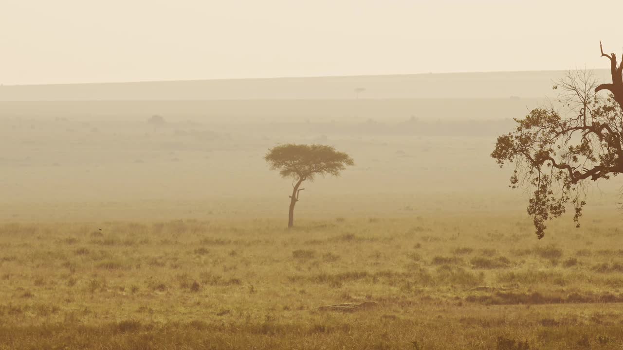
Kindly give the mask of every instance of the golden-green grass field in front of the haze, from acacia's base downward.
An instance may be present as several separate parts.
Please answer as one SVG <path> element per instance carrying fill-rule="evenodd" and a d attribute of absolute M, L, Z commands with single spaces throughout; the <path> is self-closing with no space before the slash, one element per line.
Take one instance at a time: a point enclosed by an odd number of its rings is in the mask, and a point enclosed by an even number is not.
<path fill-rule="evenodd" d="M 4 224 L 0 349 L 623 348 L 617 221 L 560 225 Z"/>

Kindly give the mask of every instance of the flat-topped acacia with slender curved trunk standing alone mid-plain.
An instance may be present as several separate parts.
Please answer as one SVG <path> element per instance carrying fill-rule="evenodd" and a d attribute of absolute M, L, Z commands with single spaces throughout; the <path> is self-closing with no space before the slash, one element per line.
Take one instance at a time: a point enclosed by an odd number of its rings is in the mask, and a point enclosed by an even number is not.
<path fill-rule="evenodd" d="M 313 181 L 316 175 L 339 176 L 346 166 L 354 165 L 353 158 L 322 144 L 282 144 L 269 149 L 264 156 L 271 170 L 278 170 L 282 177 L 292 178 L 292 196 L 288 212 L 288 227 L 294 225 L 294 206 L 303 181 Z"/>

